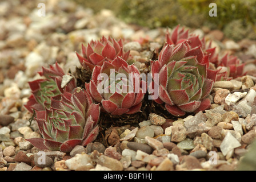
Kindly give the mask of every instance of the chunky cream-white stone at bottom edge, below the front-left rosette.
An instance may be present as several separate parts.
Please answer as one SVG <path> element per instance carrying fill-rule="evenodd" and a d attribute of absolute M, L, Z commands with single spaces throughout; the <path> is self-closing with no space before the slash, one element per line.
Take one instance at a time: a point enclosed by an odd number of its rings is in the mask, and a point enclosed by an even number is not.
<path fill-rule="evenodd" d="M 77 154 L 73 158 L 67 159 L 65 161 L 65 164 L 70 170 L 75 171 L 87 171 L 93 168 L 93 166 L 91 165 L 90 155 L 87 154 Z"/>

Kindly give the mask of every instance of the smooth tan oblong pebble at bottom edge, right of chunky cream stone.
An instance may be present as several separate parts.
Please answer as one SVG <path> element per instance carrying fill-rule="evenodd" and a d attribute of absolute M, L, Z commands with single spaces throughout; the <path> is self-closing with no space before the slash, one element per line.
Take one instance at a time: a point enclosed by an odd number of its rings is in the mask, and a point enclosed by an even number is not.
<path fill-rule="evenodd" d="M 122 171 L 123 165 L 117 159 L 109 158 L 108 156 L 101 155 L 98 159 L 98 164 L 112 169 L 113 171 Z"/>

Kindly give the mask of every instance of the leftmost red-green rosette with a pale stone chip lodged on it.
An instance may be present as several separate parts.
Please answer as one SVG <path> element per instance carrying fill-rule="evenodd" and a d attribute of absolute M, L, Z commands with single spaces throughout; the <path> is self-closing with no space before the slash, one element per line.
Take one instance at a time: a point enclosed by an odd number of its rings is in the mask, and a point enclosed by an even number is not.
<path fill-rule="evenodd" d="M 33 110 L 45 110 L 45 107 L 49 109 L 52 97 L 59 100 L 62 93 L 72 92 L 76 87 L 75 79 L 66 74 L 57 62 L 50 65 L 50 68 L 42 67 L 42 71 L 38 73 L 45 78 L 29 82 L 32 94 L 25 107 L 31 113 Z M 62 81 L 65 77 L 69 77 L 67 78 L 69 82 L 63 85 Z"/>

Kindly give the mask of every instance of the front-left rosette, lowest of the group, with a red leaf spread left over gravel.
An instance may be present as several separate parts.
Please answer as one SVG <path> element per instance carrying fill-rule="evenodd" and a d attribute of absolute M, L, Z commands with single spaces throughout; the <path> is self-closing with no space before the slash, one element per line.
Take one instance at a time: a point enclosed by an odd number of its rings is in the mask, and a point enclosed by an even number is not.
<path fill-rule="evenodd" d="M 38 129 L 43 138 L 27 139 L 41 150 L 70 152 L 75 146 L 92 142 L 98 135 L 99 104 L 93 104 L 85 89 L 65 92 L 51 99 L 50 109 L 37 111 Z"/>

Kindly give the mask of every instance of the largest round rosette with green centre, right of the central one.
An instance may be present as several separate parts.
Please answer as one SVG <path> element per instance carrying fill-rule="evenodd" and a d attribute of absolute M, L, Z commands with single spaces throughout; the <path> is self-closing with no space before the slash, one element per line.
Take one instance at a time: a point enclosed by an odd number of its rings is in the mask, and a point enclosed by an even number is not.
<path fill-rule="evenodd" d="M 176 116 L 209 108 L 210 100 L 206 97 L 217 71 L 208 67 L 209 55 L 200 46 L 191 48 L 187 42 L 166 44 L 158 60 L 151 61 L 154 81 L 155 74 L 159 74 L 159 97 L 155 102 L 164 103 L 166 110 Z"/>

